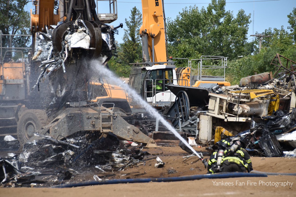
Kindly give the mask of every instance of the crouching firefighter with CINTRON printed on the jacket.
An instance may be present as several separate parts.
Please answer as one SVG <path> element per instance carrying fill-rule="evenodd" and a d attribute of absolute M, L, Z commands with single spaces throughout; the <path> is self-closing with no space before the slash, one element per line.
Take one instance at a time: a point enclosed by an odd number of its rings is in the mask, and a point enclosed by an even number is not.
<path fill-rule="evenodd" d="M 243 147 L 242 141 L 234 140 L 231 147 L 224 151 L 222 172 L 251 172 L 253 170 L 250 155 Z"/>

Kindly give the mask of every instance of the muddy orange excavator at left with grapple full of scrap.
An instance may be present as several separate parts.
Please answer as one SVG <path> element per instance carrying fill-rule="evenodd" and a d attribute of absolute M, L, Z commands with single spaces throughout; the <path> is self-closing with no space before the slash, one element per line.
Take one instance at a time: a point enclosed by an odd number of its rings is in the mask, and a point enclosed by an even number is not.
<path fill-rule="evenodd" d="M 13 62 L 6 52 L 0 64 L 0 135 L 15 135 L 23 145 L 36 133 L 63 140 L 89 132 L 156 147 L 122 118 L 131 113 L 126 99 L 91 101 L 96 92 L 102 93 L 100 84 L 91 82 L 92 69 L 111 58 L 114 31 L 122 27 L 106 24 L 117 18 L 111 13 L 116 1 L 110 1 L 110 13 L 105 14 L 97 14 L 94 0 L 34 0 L 33 4 L 29 63 Z M 107 90 L 109 95 L 113 89 Z M 122 104 L 126 109 L 119 109 Z M 8 128 L 17 132 L 7 133 Z"/>

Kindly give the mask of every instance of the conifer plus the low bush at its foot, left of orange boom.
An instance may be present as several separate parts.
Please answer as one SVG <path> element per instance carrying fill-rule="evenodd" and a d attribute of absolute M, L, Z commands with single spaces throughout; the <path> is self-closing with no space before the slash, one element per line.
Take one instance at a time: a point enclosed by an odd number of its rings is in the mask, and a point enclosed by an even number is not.
<path fill-rule="evenodd" d="M 128 77 L 130 63 L 142 60 L 142 46 L 139 36 L 142 14 L 136 7 L 133 7 L 129 20 L 126 19 L 125 22 L 127 28 L 124 29 L 123 43 L 116 44 L 117 49 L 108 62 L 109 68 L 120 77 Z"/>

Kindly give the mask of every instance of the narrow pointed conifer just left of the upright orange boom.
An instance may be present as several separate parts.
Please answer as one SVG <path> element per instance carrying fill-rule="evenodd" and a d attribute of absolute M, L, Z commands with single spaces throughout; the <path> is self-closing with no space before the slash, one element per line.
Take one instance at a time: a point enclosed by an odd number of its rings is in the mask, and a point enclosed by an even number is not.
<path fill-rule="evenodd" d="M 124 29 L 123 43 L 120 44 L 118 51 L 118 62 L 123 66 L 129 66 L 130 63 L 141 62 L 142 47 L 139 36 L 140 26 L 142 22 L 142 14 L 133 7 L 131 16 L 125 19 L 126 29 Z"/>

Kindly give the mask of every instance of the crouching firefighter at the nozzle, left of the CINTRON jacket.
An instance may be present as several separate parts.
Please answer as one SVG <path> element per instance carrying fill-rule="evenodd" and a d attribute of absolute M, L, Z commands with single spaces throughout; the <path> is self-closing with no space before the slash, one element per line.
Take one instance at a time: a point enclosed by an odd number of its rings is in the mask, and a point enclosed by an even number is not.
<path fill-rule="evenodd" d="M 207 174 L 221 172 L 220 167 L 224 157 L 224 150 L 230 146 L 230 143 L 228 139 L 223 139 L 218 141 L 215 146 L 217 149 L 213 152 L 213 154 L 211 154 L 209 162 L 207 163 Z"/>

